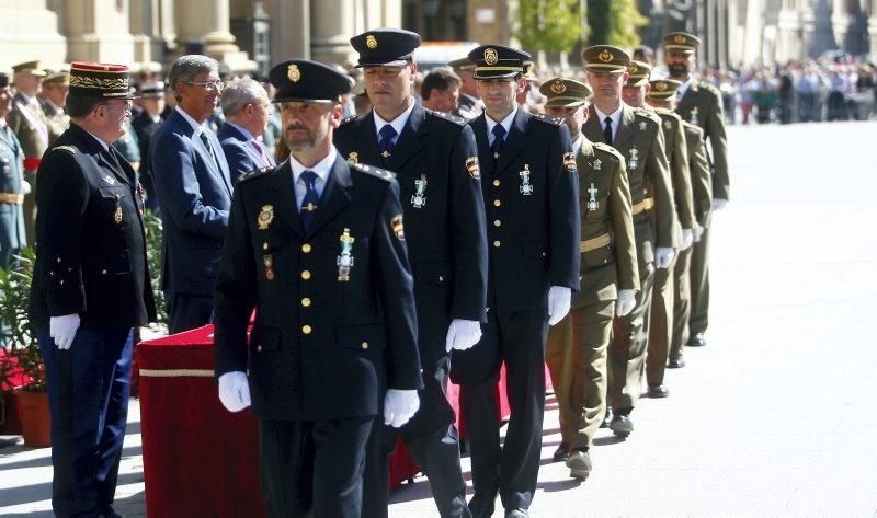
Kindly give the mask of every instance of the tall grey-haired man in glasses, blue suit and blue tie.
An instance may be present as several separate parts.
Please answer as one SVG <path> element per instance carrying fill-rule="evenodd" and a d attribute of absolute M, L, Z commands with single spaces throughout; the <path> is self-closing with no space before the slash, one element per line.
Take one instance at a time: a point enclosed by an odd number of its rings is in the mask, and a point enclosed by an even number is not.
<path fill-rule="evenodd" d="M 210 322 L 232 186 L 223 148 L 206 124 L 223 90 L 216 60 L 181 56 L 168 81 L 178 104 L 149 153 L 164 230 L 161 289 L 169 331 L 180 333 Z"/>

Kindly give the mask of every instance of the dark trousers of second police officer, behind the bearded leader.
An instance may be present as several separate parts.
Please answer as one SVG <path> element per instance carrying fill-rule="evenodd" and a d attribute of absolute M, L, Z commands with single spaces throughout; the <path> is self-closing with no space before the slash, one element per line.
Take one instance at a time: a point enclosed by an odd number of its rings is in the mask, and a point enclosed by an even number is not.
<path fill-rule="evenodd" d="M 375 419 L 365 460 L 363 518 L 386 518 L 389 487 L 389 456 L 401 436 L 408 451 L 430 479 L 433 498 L 442 517 L 469 517 L 466 482 L 459 467 L 459 436 L 454 426 L 454 408 L 447 402 L 449 356 L 432 372 L 423 373 L 423 390 L 418 392 L 420 408 L 397 429 L 384 424 L 383 411 Z"/>

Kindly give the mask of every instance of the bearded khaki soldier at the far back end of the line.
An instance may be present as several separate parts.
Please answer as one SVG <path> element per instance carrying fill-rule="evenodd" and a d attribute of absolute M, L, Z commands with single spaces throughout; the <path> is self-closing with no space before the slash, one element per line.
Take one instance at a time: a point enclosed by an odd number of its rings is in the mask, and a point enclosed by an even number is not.
<path fill-rule="evenodd" d="M 720 210 L 728 203 L 728 139 L 725 131 L 725 116 L 721 107 L 721 94 L 706 81 L 697 80 L 692 70 L 696 65 L 694 54 L 701 41 L 686 33 L 670 33 L 664 36 L 664 62 L 670 78 L 680 81 L 679 104 L 676 113 L 682 118 L 699 126 L 704 138 L 709 140 L 707 159 L 713 172 L 711 210 Z M 711 151 L 711 153 L 709 152 Z M 691 331 L 690 346 L 704 346 L 704 333 L 708 325 L 709 313 L 709 228 L 692 252 L 692 315 L 688 322 Z"/>

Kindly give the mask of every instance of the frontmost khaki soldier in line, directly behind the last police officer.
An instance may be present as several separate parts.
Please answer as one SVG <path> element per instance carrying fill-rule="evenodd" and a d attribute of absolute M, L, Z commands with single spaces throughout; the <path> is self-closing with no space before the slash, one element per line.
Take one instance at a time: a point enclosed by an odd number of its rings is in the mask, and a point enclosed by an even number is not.
<path fill-rule="evenodd" d="M 591 89 L 571 79 L 546 81 L 545 111 L 563 118 L 579 172 L 582 226 L 580 288 L 570 314 L 548 332 L 545 359 L 560 408 L 562 441 L 555 460 L 570 476 L 591 472 L 590 449 L 606 412 L 606 355 L 613 314 L 624 316 L 639 289 L 630 189 L 624 158 L 581 133 Z"/>

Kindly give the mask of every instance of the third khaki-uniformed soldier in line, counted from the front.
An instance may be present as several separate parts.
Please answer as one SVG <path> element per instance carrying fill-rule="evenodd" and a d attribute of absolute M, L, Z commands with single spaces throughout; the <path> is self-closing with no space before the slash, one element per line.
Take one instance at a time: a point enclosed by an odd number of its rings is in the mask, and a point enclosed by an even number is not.
<path fill-rule="evenodd" d="M 651 67 L 645 62 L 630 61 L 629 78 L 622 91 L 624 102 L 636 107 L 652 111 L 661 118 L 664 134 L 664 152 L 670 162 L 670 177 L 673 183 L 673 197 L 676 202 L 676 237 L 682 245 L 680 252 L 687 251 L 694 240 L 694 208 L 692 206 L 692 183 L 688 173 L 688 153 L 685 147 L 685 133 L 682 117 L 670 110 L 654 108 L 646 104 Z M 677 258 L 677 257 L 676 257 Z M 652 287 L 651 320 L 649 323 L 649 347 L 646 354 L 646 380 L 649 398 L 667 398 L 670 390 L 664 385 L 664 368 L 670 353 L 673 333 L 673 300 L 676 276 L 676 258 L 665 269 L 654 273 Z M 687 272 L 686 272 L 687 273 Z"/>

